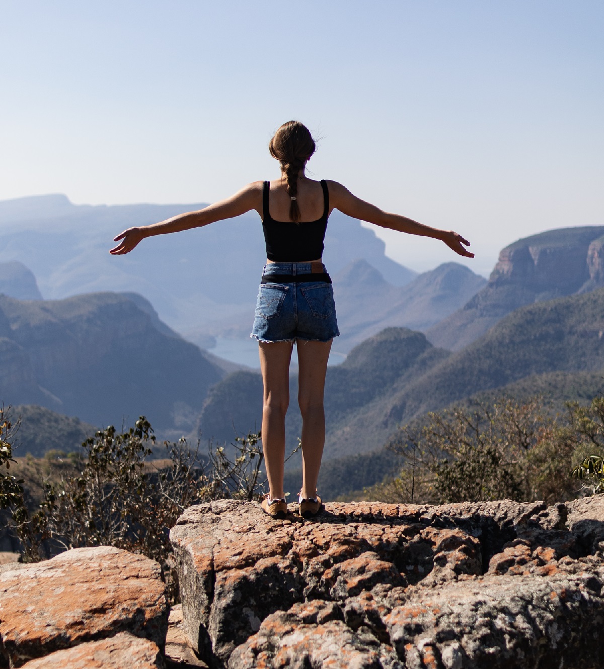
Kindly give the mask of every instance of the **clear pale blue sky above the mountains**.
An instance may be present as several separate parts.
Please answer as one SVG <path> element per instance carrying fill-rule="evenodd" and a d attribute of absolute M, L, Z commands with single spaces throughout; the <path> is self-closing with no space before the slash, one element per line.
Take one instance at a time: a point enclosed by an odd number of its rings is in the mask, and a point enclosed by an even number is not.
<path fill-rule="evenodd" d="M 298 118 L 317 178 L 457 229 L 488 274 L 604 225 L 603 34 L 601 0 L 0 0 L 0 199 L 214 201 L 277 176 Z M 458 260 L 379 233 L 415 270 Z"/>

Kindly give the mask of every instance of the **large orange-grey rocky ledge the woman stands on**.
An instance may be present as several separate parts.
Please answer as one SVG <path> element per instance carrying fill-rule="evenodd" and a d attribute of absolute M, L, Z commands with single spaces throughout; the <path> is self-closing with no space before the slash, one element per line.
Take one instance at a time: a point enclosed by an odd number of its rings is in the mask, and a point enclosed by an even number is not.
<path fill-rule="evenodd" d="M 604 666 L 604 496 L 327 504 L 311 521 L 212 502 L 171 541 L 185 634 L 210 666 Z"/>

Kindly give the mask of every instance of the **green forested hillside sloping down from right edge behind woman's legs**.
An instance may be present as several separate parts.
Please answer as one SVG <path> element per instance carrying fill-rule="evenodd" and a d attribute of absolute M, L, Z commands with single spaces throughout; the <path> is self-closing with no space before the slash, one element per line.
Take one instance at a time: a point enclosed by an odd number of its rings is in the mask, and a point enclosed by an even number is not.
<path fill-rule="evenodd" d="M 397 425 L 481 391 L 544 373 L 601 370 L 603 332 L 604 290 L 518 309 L 453 354 L 435 349 L 419 332 L 388 328 L 327 372 L 325 459 L 380 448 Z M 200 418 L 206 436 L 227 438 L 224 425 L 232 423 L 240 432 L 260 425 L 260 376 L 241 378 L 231 375 L 212 389 Z M 287 439 L 295 446 L 295 377 L 291 385 Z"/>

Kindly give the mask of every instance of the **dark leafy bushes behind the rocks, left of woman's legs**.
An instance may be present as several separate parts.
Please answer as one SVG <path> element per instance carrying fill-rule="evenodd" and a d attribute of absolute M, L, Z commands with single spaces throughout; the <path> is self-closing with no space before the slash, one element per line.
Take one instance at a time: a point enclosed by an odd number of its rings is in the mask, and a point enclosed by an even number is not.
<path fill-rule="evenodd" d="M 169 529 L 192 504 L 221 498 L 252 500 L 264 482 L 260 434 L 237 438 L 236 458 L 223 447 L 202 458 L 183 438 L 164 442 L 166 457 L 149 462 L 155 436 L 141 416 L 135 427 L 96 432 L 82 444 L 76 472 L 44 482 L 44 498 L 29 512 L 23 496 L 13 499 L 13 522 L 26 561 L 39 561 L 60 551 L 111 545 L 157 560 L 177 585 L 171 563 Z"/>

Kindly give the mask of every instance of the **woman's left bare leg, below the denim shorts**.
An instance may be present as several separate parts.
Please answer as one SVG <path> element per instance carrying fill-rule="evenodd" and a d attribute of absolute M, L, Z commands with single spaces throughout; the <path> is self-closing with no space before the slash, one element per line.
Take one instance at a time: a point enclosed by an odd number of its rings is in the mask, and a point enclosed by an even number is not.
<path fill-rule="evenodd" d="M 293 343 L 258 342 L 260 369 L 265 386 L 262 405 L 262 450 L 265 454 L 271 499 L 283 497 L 285 413 L 289 405 L 289 361 Z"/>

